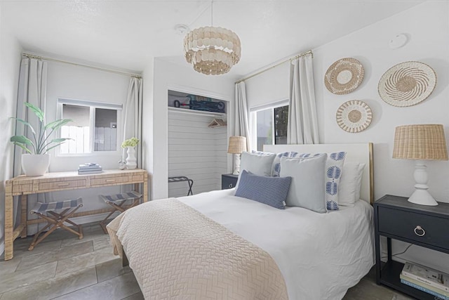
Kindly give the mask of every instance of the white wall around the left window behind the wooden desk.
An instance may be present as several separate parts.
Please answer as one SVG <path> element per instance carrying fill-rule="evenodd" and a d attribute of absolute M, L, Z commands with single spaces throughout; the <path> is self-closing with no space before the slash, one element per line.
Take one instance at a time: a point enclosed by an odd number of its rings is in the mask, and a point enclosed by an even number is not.
<path fill-rule="evenodd" d="M 58 98 L 90 100 L 94 102 L 123 104 L 128 93 L 130 77 L 112 72 L 104 72 L 87 67 L 76 67 L 65 63 L 48 61 L 47 72 L 47 91 L 46 91 L 46 120 L 50 122 L 56 119 Z M 123 122 L 123 118 L 121 118 Z M 119 123 L 121 126 L 123 123 Z M 119 130 L 121 133 L 121 130 Z M 117 140 L 121 141 L 121 134 L 118 134 Z M 97 162 L 103 169 L 118 169 L 118 162 L 122 155 L 122 149 L 117 148 L 118 152 L 102 152 L 97 155 L 77 155 L 77 156 L 58 156 L 55 150 L 51 150 L 51 164 L 49 171 L 76 171 L 79 164 L 85 162 Z M 98 198 L 100 194 L 119 193 L 120 188 L 95 188 L 76 190 L 77 197 L 83 197 L 83 207 L 80 211 L 92 209 L 102 209 L 109 207 L 105 202 Z M 73 197 L 73 192 L 59 191 L 52 193 L 54 200 L 69 199 Z M 84 216 L 77 221 L 86 223 L 103 219 L 102 215 Z"/>

